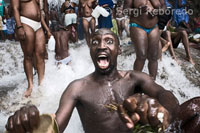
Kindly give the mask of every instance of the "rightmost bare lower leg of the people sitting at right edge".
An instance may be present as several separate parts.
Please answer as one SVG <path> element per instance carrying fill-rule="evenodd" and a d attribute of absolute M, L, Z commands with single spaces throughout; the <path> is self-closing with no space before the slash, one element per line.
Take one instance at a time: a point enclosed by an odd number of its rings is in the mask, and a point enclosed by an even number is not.
<path fill-rule="evenodd" d="M 180 34 L 181 34 L 183 46 L 184 46 L 184 48 L 185 48 L 185 52 L 186 52 L 188 61 L 194 65 L 195 63 L 194 63 L 194 61 L 193 61 L 193 59 L 192 59 L 192 56 L 191 56 L 191 54 L 190 54 L 188 34 L 187 34 L 187 32 L 186 32 L 185 30 L 180 31 Z"/>

